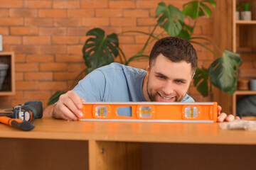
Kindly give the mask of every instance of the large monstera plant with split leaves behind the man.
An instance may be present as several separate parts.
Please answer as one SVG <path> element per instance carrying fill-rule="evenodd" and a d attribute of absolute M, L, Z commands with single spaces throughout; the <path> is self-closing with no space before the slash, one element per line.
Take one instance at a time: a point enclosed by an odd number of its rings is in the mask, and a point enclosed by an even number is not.
<path fill-rule="evenodd" d="M 180 11 L 171 4 L 166 6 L 164 2 L 159 3 L 159 6 L 156 8 L 157 23 L 151 33 L 130 30 L 117 35 L 107 35 L 107 37 L 105 37 L 104 30 L 100 28 L 90 30 L 87 35 L 92 36 L 92 38 L 89 38 L 85 42 L 85 46 L 82 50 L 85 64 L 87 64 L 87 73 L 97 67 L 101 67 L 102 65 L 110 64 L 117 56 L 120 57 L 122 64 L 127 65 L 129 62 L 134 60 L 149 58 L 149 55 L 144 54 L 146 47 L 148 47 L 151 42 L 159 40 L 161 36 L 164 36 L 167 33 L 169 36 L 178 36 L 191 43 L 201 45 L 217 57 L 217 60 L 210 64 L 208 69 L 203 67 L 198 68 L 195 76 L 193 77 L 194 85 L 203 96 L 208 96 L 212 89 L 212 84 L 218 87 L 221 91 L 233 94 L 237 87 L 238 67 L 242 63 L 240 55 L 228 50 L 221 52 L 217 45 L 207 38 L 193 37 L 193 30 L 196 28 L 198 17 L 209 17 L 212 13 L 207 4 L 214 7 L 215 1 L 191 1 L 183 5 L 183 11 Z M 188 25 L 184 21 L 183 18 L 185 17 L 190 17 L 192 19 L 192 25 Z M 163 28 L 163 31 L 155 35 L 154 32 L 157 27 Z M 122 52 L 122 49 L 120 49 L 118 43 L 118 36 L 125 33 L 142 33 L 144 35 L 149 35 L 149 38 L 147 38 L 142 50 L 139 50 L 135 55 L 129 57 L 129 60 L 126 60 L 127 57 L 124 55 L 124 52 Z M 198 40 L 206 40 L 206 42 L 210 42 L 214 45 L 217 52 L 211 50 L 201 42 L 198 42 Z M 100 54 L 100 56 L 97 54 Z M 220 57 L 221 55 L 222 57 Z M 56 94 L 56 96 L 57 95 L 58 94 Z"/>

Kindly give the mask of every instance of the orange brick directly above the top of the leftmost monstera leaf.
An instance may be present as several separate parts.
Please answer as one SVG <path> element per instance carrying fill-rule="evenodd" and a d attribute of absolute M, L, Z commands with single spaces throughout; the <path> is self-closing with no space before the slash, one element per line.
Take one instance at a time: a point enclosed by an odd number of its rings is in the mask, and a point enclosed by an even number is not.
<path fill-rule="evenodd" d="M 82 26 L 110 26 L 109 18 L 82 18 Z"/>

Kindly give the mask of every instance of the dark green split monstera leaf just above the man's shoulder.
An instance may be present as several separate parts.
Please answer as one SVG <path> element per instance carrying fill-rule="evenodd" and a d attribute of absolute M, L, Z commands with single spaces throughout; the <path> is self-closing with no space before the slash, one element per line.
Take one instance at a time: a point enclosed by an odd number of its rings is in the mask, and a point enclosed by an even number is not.
<path fill-rule="evenodd" d="M 114 58 L 119 55 L 119 42 L 117 34 L 112 33 L 105 37 L 105 31 L 100 28 L 89 30 L 86 34 L 92 36 L 82 48 L 83 58 L 87 65 L 87 72 L 92 72 L 93 69 L 114 62 Z"/>

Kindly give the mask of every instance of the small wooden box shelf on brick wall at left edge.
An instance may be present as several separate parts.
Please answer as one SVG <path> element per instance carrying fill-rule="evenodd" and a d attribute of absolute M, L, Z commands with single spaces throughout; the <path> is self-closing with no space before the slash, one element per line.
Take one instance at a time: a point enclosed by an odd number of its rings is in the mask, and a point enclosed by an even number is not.
<path fill-rule="evenodd" d="M 15 94 L 15 66 L 14 52 L 0 52 L 0 63 L 8 64 L 8 69 L 4 75 L 3 84 L 0 89 L 0 96 L 9 96 Z M 0 73 L 3 72 L 0 70 Z M 0 74 L 1 75 L 1 74 Z"/>

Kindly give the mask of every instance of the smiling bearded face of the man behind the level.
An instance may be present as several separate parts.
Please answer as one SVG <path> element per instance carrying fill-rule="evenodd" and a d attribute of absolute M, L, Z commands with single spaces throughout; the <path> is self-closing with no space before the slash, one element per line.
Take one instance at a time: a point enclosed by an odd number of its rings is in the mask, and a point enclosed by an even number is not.
<path fill-rule="evenodd" d="M 147 67 L 146 100 L 159 102 L 181 101 L 193 78 L 191 63 L 171 62 L 159 54 Z"/>

